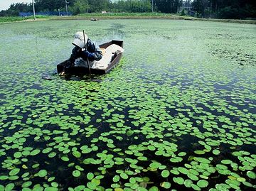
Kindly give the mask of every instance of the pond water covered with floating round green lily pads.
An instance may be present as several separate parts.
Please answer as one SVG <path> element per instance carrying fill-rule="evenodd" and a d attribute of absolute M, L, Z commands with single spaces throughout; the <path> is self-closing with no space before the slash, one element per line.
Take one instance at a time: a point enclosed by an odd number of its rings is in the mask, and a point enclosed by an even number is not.
<path fill-rule="evenodd" d="M 103 76 L 59 77 L 76 31 L 124 40 Z M 0 25 L 0 190 L 254 190 L 256 26 Z M 53 80 L 43 80 L 49 75 Z"/>

